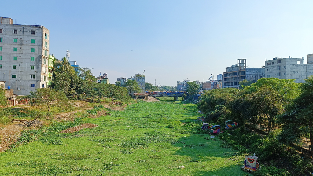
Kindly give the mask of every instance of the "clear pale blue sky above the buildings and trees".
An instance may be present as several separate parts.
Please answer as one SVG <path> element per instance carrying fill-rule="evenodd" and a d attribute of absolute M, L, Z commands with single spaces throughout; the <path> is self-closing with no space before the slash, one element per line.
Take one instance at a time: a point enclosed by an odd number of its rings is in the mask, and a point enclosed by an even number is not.
<path fill-rule="evenodd" d="M 247 59 L 313 53 L 313 1 L 100 0 L 1 2 L 14 24 L 43 25 L 49 53 L 107 73 L 110 83 L 138 72 L 154 85 L 208 80 Z M 137 71 L 138 70 L 138 71 Z M 144 72 L 145 70 L 145 72 Z"/>

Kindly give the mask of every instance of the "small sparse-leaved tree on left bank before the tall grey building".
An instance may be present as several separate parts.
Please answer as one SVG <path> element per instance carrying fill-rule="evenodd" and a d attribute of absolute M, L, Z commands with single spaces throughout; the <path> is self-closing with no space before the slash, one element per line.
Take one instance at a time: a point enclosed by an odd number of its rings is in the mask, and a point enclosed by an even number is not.
<path fill-rule="evenodd" d="M 29 103 L 32 106 L 36 105 L 46 105 L 48 111 L 50 111 L 50 106 L 64 106 L 68 103 L 68 98 L 63 91 L 58 91 L 50 88 L 36 89 L 35 92 L 30 92 L 30 95 L 27 96 Z"/>

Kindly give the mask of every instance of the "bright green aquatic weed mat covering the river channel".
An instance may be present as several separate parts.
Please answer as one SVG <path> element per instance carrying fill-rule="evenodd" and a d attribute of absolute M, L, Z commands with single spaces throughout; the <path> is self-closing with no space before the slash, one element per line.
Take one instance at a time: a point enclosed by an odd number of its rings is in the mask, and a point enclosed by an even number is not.
<path fill-rule="evenodd" d="M 243 175 L 243 160 L 199 134 L 196 105 L 176 101 L 131 104 L 110 116 L 85 118 L 98 127 L 51 133 L 0 154 L 3 175 Z M 182 122 L 181 131 L 171 129 Z M 188 128 L 188 129 L 183 129 Z M 186 133 L 186 130 L 189 134 Z M 189 131 L 188 131 L 189 130 Z M 197 129 L 196 129 L 197 130 Z M 178 132 L 177 132 L 178 131 Z M 182 132 L 182 133 L 179 133 Z M 194 134 L 190 134 L 194 133 Z M 181 167 L 184 166 L 185 168 Z"/>

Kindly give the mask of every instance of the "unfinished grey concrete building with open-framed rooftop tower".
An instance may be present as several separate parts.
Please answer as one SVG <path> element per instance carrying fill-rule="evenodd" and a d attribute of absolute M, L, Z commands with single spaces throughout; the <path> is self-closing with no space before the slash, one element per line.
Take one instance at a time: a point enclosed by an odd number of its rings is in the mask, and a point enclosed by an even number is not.
<path fill-rule="evenodd" d="M 237 65 L 226 67 L 226 72 L 223 73 L 222 86 L 239 88 L 239 82 L 248 80 L 256 82 L 264 77 L 264 68 L 248 68 L 247 59 L 237 59 Z"/>

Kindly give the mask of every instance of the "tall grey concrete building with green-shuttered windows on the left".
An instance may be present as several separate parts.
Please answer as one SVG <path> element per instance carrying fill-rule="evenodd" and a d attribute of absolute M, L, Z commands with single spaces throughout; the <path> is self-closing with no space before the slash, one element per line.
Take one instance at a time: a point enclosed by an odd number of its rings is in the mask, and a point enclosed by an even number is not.
<path fill-rule="evenodd" d="M 14 94 L 28 95 L 48 82 L 49 30 L 39 25 L 13 24 L 0 17 L 0 80 Z"/>

